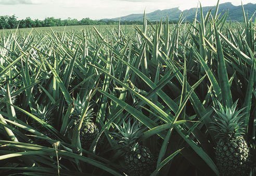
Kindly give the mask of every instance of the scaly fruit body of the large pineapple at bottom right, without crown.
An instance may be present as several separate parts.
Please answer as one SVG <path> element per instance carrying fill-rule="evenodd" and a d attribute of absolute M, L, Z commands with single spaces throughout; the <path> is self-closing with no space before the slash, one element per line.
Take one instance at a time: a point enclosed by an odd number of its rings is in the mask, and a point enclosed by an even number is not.
<path fill-rule="evenodd" d="M 215 154 L 216 164 L 222 175 L 249 175 L 249 148 L 244 138 L 220 139 Z"/>

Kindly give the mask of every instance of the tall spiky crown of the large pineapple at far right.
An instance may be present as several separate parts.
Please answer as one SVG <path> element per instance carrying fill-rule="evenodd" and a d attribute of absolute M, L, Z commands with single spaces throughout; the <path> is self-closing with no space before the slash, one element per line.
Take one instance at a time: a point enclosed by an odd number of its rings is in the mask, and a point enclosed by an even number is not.
<path fill-rule="evenodd" d="M 237 101 L 231 108 L 224 107 L 219 101 L 217 101 L 218 108 L 214 108 L 216 115 L 214 116 L 214 124 L 211 127 L 216 131 L 216 139 L 228 139 L 233 137 L 241 137 L 245 134 L 244 123 L 241 121 L 241 117 L 245 113 L 241 113 L 244 108 L 237 110 Z"/>

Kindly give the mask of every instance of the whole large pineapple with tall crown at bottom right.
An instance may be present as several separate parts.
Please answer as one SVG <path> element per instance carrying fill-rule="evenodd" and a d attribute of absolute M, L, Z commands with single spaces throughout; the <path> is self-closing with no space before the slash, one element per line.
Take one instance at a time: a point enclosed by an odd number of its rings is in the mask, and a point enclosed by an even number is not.
<path fill-rule="evenodd" d="M 216 164 L 225 176 L 249 175 L 249 148 L 243 138 L 245 128 L 241 110 L 236 110 L 237 102 L 231 107 L 215 109 L 216 116 L 212 129 L 216 131 Z"/>

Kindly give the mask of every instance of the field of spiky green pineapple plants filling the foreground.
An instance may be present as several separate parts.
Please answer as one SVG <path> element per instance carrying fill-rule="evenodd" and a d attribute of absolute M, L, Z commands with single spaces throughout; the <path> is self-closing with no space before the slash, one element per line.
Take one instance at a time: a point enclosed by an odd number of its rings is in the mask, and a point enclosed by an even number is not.
<path fill-rule="evenodd" d="M 0 175 L 256 175 L 256 19 L 0 32 Z"/>

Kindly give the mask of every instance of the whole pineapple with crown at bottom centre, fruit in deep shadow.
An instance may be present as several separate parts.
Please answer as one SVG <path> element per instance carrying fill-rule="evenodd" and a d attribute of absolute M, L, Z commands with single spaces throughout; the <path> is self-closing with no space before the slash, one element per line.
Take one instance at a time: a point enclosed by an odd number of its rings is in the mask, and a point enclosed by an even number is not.
<path fill-rule="evenodd" d="M 123 123 L 123 126 L 116 125 L 119 133 L 113 135 L 119 139 L 121 152 L 124 155 L 125 170 L 129 176 L 150 175 L 156 168 L 156 160 L 146 146 L 138 143 L 139 136 L 142 134 L 139 125 L 134 123 L 131 126 Z"/>

